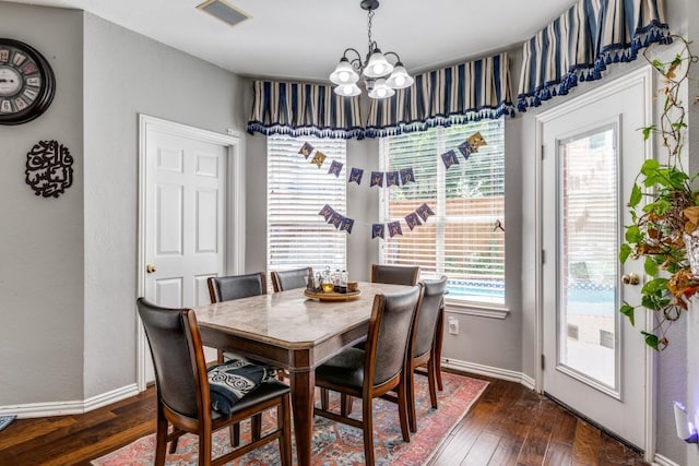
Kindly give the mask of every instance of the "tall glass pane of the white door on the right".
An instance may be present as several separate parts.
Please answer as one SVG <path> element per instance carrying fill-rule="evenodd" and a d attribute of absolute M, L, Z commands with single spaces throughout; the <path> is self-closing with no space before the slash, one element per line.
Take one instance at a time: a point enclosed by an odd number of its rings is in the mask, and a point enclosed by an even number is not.
<path fill-rule="evenodd" d="M 619 397 L 617 121 L 558 141 L 558 370 Z"/>

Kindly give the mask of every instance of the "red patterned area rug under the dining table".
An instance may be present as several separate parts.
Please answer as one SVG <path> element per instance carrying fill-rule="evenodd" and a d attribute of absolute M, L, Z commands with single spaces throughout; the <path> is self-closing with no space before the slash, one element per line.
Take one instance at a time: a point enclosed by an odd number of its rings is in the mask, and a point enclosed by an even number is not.
<path fill-rule="evenodd" d="M 418 431 L 410 443 L 403 441 L 398 420 L 398 407 L 384 399 L 374 401 L 374 444 L 377 465 L 424 465 L 453 427 L 478 399 L 487 382 L 467 377 L 442 373 L 443 392 L 438 392 L 438 409 L 429 403 L 427 378 L 416 375 L 416 414 Z M 331 406 L 339 402 L 332 397 Z M 360 418 L 360 406 L 355 403 L 353 416 Z M 274 426 L 273 415 L 265 414 L 263 429 Z M 364 441 L 362 430 L 316 417 L 313 430 L 313 465 L 356 466 L 364 465 Z M 249 422 L 241 425 L 241 440 L 249 439 Z M 264 432 L 264 430 L 263 430 Z M 222 429 L 213 435 L 213 456 L 230 450 L 228 430 Z M 177 453 L 168 454 L 166 465 L 189 466 L 197 464 L 198 440 L 187 434 L 179 441 Z M 279 442 L 248 453 L 232 462 L 232 465 L 279 465 Z M 144 437 L 106 456 L 92 462 L 95 466 L 152 465 L 155 452 L 155 434 Z M 294 451 L 296 462 L 296 452 Z"/>

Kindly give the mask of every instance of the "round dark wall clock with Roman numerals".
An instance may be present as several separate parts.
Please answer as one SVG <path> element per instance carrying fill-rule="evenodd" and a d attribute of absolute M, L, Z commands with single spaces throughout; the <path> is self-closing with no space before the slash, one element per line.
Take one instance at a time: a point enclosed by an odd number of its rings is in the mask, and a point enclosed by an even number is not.
<path fill-rule="evenodd" d="M 42 115 L 54 99 L 48 61 L 33 47 L 0 38 L 0 124 L 20 124 Z"/>

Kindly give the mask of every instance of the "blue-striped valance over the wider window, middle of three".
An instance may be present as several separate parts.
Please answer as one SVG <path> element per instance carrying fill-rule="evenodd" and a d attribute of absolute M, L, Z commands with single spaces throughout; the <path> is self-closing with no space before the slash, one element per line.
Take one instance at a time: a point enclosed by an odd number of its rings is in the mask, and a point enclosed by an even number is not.
<path fill-rule="evenodd" d="M 513 115 L 507 53 L 415 76 L 412 86 L 371 100 L 367 138 Z"/>

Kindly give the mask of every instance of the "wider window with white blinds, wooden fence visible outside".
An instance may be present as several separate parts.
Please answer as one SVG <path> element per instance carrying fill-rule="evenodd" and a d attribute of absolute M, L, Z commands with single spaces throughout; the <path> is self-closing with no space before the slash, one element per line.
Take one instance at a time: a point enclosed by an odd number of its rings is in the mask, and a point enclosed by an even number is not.
<path fill-rule="evenodd" d="M 487 145 L 461 156 L 459 144 L 481 132 Z M 459 165 L 446 168 L 453 150 Z M 403 235 L 381 240 L 381 262 L 447 275 L 448 299 L 505 303 L 505 121 L 482 120 L 381 139 L 381 170 L 413 168 L 415 183 L 383 189 L 381 223 L 401 220 Z M 423 203 L 434 211 L 413 230 L 404 217 Z M 500 222 L 500 223 L 498 223 Z"/>

